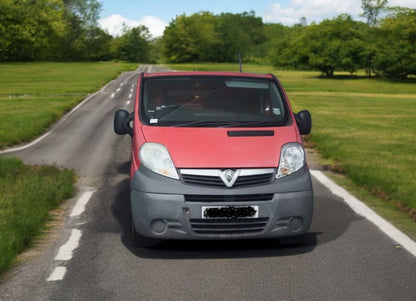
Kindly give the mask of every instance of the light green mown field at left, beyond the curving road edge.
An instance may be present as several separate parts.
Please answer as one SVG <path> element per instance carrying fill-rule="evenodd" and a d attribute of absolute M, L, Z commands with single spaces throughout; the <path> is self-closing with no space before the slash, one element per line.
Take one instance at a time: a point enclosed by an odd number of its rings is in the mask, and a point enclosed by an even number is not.
<path fill-rule="evenodd" d="M 127 63 L 0 64 L 0 149 L 32 140 Z"/>

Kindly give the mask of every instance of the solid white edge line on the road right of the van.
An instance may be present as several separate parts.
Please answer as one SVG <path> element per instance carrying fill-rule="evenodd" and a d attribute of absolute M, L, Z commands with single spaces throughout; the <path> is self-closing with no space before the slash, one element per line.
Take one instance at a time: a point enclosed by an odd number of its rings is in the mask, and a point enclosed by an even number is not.
<path fill-rule="evenodd" d="M 336 196 L 339 196 L 344 199 L 345 203 L 351 207 L 351 209 L 365 217 L 367 220 L 372 222 L 376 225 L 381 231 L 383 231 L 387 236 L 393 239 L 396 243 L 400 244 L 403 248 L 409 251 L 413 256 L 416 256 L 416 242 L 411 240 L 406 234 L 398 230 L 388 221 L 383 219 L 377 213 L 375 213 L 371 208 L 369 208 L 366 204 L 358 200 L 356 197 L 351 195 L 348 191 L 344 188 L 335 184 L 331 179 L 325 176 L 319 170 L 311 170 L 311 174 L 315 179 L 321 182 L 324 186 L 326 186 L 331 193 Z"/>

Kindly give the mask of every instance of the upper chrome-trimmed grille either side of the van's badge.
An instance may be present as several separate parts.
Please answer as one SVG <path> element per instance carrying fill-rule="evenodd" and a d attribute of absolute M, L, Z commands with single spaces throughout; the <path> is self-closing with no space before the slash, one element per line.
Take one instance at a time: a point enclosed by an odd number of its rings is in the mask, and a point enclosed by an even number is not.
<path fill-rule="evenodd" d="M 259 174 L 249 174 L 249 175 L 240 175 L 237 180 L 235 181 L 233 188 L 241 188 L 247 186 L 255 186 L 255 185 L 263 185 L 268 184 L 273 181 L 273 170 L 272 172 L 267 173 L 259 173 Z M 222 179 L 212 173 L 210 175 L 206 174 L 198 174 L 198 171 L 194 173 L 182 173 L 182 181 L 185 184 L 190 185 L 199 185 L 199 186 L 207 186 L 207 187 L 216 187 L 216 188 L 224 188 L 226 187 L 225 183 Z"/>

